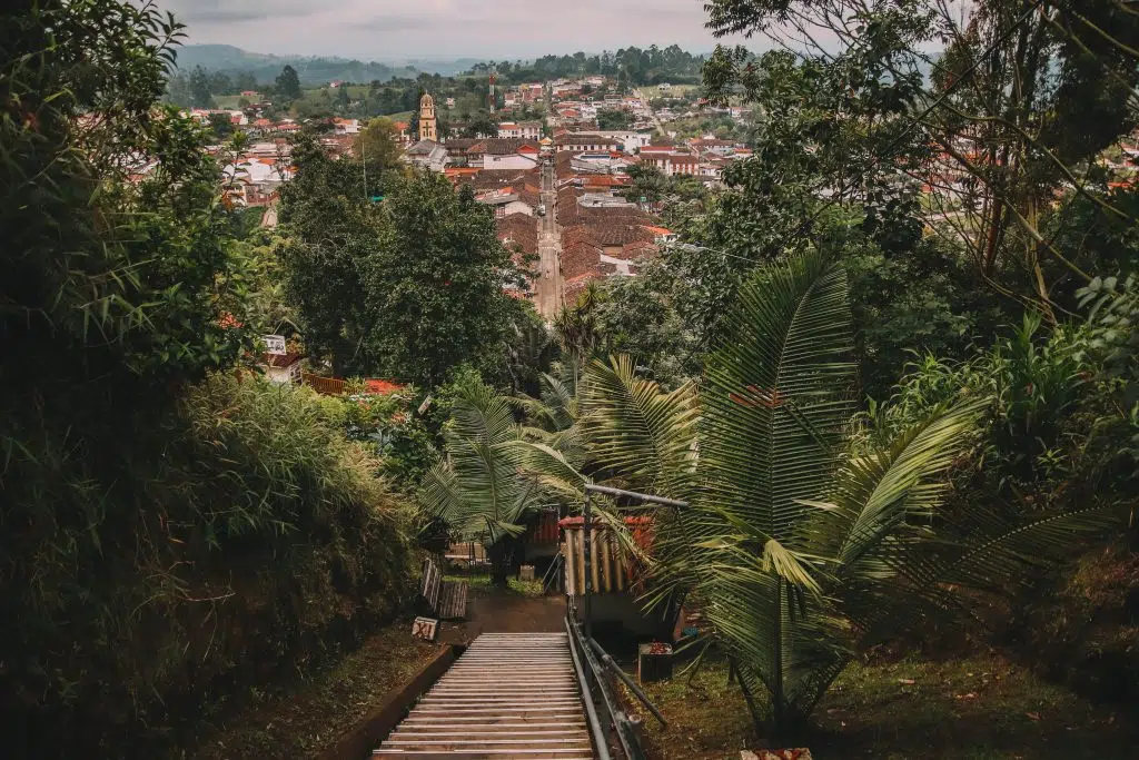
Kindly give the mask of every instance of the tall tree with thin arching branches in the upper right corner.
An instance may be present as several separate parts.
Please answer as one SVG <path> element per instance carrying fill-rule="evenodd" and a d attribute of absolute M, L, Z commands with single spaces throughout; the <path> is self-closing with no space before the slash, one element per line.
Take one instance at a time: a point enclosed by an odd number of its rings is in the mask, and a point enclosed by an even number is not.
<path fill-rule="evenodd" d="M 829 81 L 823 93 L 841 93 L 842 103 L 825 111 L 843 117 L 803 134 L 818 157 L 837 158 L 817 164 L 831 198 L 862 206 L 879 230 L 924 218 L 962 247 L 980 283 L 1052 324 L 1074 311 L 1074 292 L 1090 279 L 1076 252 L 1042 229 L 1057 198 L 1062 215 L 1082 198 L 1136 221 L 1103 197 L 1093 169 L 1137 122 L 1139 18 L 1117 2 L 985 0 L 960 13 L 934 0 L 892 0 L 853 26 L 841 0 L 715 0 L 708 9 L 715 34 L 770 32 L 806 51 L 801 65 L 780 64 L 777 77 L 745 51 L 718 49 L 705 68 L 714 99 L 739 87 L 761 113 L 779 115 L 760 125 L 765 141 L 763 132 L 785 131 L 782 116 L 809 113 L 775 100 L 772 82 Z M 834 44 L 818 43 L 820 27 Z M 941 40 L 945 52 L 933 58 L 928 49 Z M 906 197 L 907 185 L 931 188 L 925 207 Z"/>

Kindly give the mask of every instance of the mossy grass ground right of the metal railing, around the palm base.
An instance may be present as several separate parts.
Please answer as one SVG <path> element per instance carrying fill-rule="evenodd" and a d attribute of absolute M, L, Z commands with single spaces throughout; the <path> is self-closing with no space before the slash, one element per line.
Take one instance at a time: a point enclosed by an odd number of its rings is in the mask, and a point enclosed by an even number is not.
<path fill-rule="evenodd" d="M 646 690 L 669 719 L 646 720 L 650 760 L 738 760 L 757 747 L 723 662 Z M 855 664 L 838 678 L 801 742 L 816 760 L 1124 760 L 1139 743 L 1139 711 L 1097 706 L 995 653 L 947 662 Z"/>

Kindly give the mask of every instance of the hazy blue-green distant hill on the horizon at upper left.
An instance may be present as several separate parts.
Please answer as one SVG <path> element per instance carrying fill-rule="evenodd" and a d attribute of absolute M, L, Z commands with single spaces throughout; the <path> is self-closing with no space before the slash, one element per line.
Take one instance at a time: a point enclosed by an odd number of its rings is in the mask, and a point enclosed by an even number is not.
<path fill-rule="evenodd" d="M 178 49 L 178 68 L 188 72 L 195 66 L 227 74 L 252 72 L 259 83 L 270 83 L 286 64 L 296 70 L 301 84 L 325 84 L 333 80 L 345 82 L 386 81 L 394 76 L 418 76 L 420 72 L 449 76 L 469 70 L 476 58 L 459 60 L 409 60 L 394 63 L 361 62 L 339 57 L 274 56 L 249 52 L 231 44 L 186 44 Z"/>

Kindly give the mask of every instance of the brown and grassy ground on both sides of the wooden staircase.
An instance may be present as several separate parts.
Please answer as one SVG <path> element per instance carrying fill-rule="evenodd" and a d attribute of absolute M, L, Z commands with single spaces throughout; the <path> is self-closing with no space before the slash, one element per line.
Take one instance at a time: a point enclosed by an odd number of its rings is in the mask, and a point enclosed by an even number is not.
<path fill-rule="evenodd" d="M 393 623 L 327 671 L 235 700 L 182 757 L 313 758 L 402 688 L 442 644 L 484 631 L 563 630 L 564 603 L 542 596 L 539 582 L 511 580 L 499 590 L 485 575 L 464 579 L 468 619 L 444 623 L 439 645 L 413 640 L 409 620 Z M 649 760 L 738 760 L 740 749 L 767 744 L 752 730 L 739 688 L 727 683 L 724 662 L 707 657 L 690 685 L 693 673 L 681 668 L 671 681 L 646 685 L 670 721 L 661 729 L 645 718 Z M 632 661 L 625 669 L 636 672 Z M 1124 760 L 1139 746 L 1139 709 L 1095 705 L 990 651 L 855 663 L 820 702 L 814 725 L 796 743 L 817 760 Z"/>

